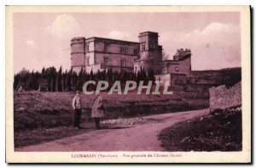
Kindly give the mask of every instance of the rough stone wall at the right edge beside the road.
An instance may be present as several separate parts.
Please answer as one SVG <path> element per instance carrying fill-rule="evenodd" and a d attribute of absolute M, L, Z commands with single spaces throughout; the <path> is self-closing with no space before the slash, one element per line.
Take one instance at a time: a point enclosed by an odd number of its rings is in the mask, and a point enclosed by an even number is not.
<path fill-rule="evenodd" d="M 227 109 L 241 105 L 241 81 L 227 88 L 224 85 L 212 87 L 210 93 L 210 109 Z"/>

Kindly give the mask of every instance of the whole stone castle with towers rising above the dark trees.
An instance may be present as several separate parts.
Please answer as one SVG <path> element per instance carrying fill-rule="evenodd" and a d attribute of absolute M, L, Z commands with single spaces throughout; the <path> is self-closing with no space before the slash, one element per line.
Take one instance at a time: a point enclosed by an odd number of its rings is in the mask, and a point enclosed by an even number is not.
<path fill-rule="evenodd" d="M 71 67 L 74 71 L 154 70 L 156 80 L 170 85 L 186 83 L 191 76 L 190 49 L 177 49 L 173 60 L 163 60 L 157 32 L 139 33 L 139 42 L 101 37 L 74 37 L 71 40 Z"/>

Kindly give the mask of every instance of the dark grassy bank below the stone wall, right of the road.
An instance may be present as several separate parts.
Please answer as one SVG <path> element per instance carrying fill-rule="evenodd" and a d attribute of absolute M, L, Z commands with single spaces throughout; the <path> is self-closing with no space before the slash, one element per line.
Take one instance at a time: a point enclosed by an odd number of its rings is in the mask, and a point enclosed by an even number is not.
<path fill-rule="evenodd" d="M 241 151 L 241 110 L 216 112 L 160 132 L 166 151 Z"/>

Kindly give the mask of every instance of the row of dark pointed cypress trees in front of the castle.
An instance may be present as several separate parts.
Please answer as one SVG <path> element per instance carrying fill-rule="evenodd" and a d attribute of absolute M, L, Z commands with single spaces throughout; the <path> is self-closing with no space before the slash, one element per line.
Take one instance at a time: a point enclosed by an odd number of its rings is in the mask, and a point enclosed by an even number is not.
<path fill-rule="evenodd" d="M 73 69 L 66 70 L 63 73 L 62 67 L 57 71 L 54 66 L 43 68 L 41 72 L 29 72 L 23 68 L 19 73 L 15 74 L 14 90 L 23 87 L 26 90 L 38 90 L 48 92 L 64 92 L 81 90 L 85 81 L 108 81 L 110 89 L 114 81 L 121 81 L 122 88 L 125 86 L 125 81 L 154 81 L 154 70 L 144 70 L 140 67 L 137 73 L 133 71 L 113 71 L 112 68 L 93 73 L 86 73 L 81 69 L 77 74 Z M 90 85 L 90 90 L 95 90 L 96 87 Z"/>

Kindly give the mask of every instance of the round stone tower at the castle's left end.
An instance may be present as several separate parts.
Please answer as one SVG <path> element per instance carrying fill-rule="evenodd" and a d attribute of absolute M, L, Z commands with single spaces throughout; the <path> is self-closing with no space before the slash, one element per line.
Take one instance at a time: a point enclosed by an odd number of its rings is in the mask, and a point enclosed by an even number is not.
<path fill-rule="evenodd" d="M 85 37 L 74 37 L 71 40 L 71 68 L 79 74 L 85 68 Z"/>

